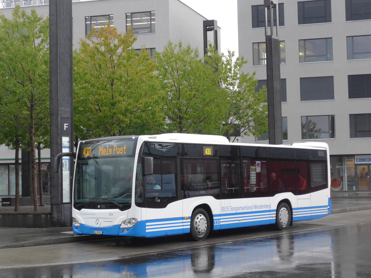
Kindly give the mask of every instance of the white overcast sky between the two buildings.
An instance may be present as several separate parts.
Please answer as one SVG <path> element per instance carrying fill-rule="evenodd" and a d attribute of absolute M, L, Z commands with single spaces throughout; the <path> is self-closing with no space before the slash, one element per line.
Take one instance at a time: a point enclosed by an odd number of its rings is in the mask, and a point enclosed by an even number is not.
<path fill-rule="evenodd" d="M 209 20 L 217 20 L 220 50 L 233 50 L 238 55 L 237 0 L 181 0 Z"/>

